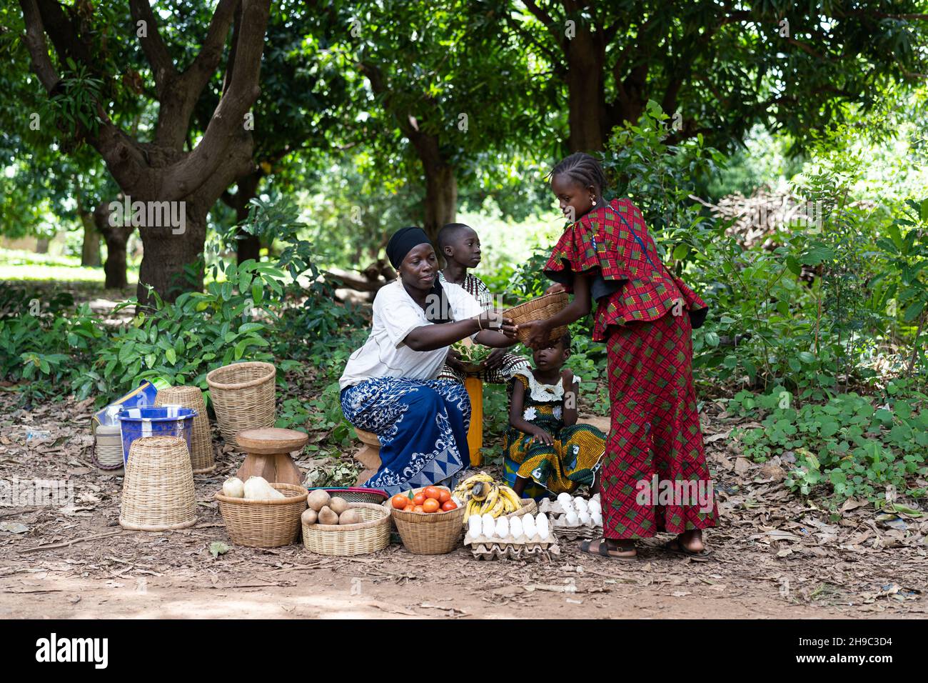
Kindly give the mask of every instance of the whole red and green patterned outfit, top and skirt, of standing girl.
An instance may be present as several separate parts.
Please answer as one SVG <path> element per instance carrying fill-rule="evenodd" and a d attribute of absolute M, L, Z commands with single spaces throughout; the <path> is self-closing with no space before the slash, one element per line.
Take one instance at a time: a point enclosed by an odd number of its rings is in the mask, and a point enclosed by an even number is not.
<path fill-rule="evenodd" d="M 605 537 L 715 526 L 688 314 L 705 304 L 664 267 L 641 212 L 627 200 L 593 209 L 561 235 L 545 274 L 571 291 L 574 273 L 591 279 L 593 339 L 604 341 L 608 351 L 612 428 L 602 460 Z M 654 500 L 654 481 L 684 494 Z"/>

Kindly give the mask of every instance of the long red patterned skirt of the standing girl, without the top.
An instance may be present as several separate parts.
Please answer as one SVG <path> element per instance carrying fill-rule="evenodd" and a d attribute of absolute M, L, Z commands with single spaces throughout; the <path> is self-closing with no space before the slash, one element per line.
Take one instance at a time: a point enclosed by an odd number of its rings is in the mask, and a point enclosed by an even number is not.
<path fill-rule="evenodd" d="M 684 313 L 612 328 L 612 430 L 603 455 L 606 538 L 647 538 L 715 526 Z"/>

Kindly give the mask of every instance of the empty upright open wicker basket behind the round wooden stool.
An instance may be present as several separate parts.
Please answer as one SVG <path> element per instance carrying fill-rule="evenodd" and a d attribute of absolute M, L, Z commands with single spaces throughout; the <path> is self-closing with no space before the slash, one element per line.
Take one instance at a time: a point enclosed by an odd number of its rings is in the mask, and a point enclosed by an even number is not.
<path fill-rule="evenodd" d="M 243 429 L 274 427 L 277 368 L 269 362 L 237 362 L 206 375 L 216 423 L 226 443 Z"/>

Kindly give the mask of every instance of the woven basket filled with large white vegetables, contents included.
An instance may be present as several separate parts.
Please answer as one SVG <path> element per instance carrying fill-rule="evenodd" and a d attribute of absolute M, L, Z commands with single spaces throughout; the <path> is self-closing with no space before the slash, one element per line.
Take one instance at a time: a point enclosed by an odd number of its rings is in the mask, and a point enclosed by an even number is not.
<path fill-rule="evenodd" d="M 262 477 L 226 479 L 215 494 L 232 543 L 276 548 L 296 543 L 309 492 L 295 484 L 270 484 Z"/>

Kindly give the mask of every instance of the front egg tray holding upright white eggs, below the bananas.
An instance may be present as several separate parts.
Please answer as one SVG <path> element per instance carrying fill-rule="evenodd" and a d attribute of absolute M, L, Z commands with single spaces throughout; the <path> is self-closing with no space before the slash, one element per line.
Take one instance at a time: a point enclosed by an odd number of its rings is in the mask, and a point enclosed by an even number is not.
<path fill-rule="evenodd" d="M 497 518 L 471 515 L 464 545 L 480 559 L 530 559 L 560 552 L 548 516 L 541 512 Z"/>

